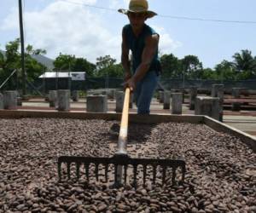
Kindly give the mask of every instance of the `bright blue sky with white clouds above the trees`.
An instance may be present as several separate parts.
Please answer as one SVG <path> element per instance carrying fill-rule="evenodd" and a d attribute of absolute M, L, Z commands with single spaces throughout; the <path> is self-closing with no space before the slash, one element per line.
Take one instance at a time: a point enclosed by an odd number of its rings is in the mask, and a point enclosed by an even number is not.
<path fill-rule="evenodd" d="M 25 42 L 59 53 L 82 56 L 92 62 L 111 55 L 119 60 L 121 29 L 128 20 L 115 10 L 129 0 L 23 0 Z M 232 60 L 241 49 L 256 55 L 256 24 L 180 20 L 163 15 L 211 20 L 256 21 L 255 0 L 149 0 L 159 16 L 147 20 L 160 33 L 161 54 L 197 55 L 204 67 Z M 96 9 L 86 5 L 104 7 Z M 0 2 L 0 49 L 20 36 L 18 0 Z"/>

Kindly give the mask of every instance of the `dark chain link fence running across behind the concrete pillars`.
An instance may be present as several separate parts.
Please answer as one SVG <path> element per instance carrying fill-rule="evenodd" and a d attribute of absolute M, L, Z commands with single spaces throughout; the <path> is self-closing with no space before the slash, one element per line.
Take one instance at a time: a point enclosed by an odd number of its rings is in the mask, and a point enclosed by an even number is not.
<path fill-rule="evenodd" d="M 33 82 L 26 82 L 27 95 L 45 95 L 49 90 L 70 89 L 87 91 L 90 89 L 122 89 L 123 78 L 85 78 L 82 81 L 73 81 L 71 78 L 38 78 Z M 170 79 L 160 78 L 157 89 L 189 89 L 195 86 L 198 89 L 211 90 L 212 84 L 224 84 L 225 92 L 230 93 L 232 88 L 256 89 L 256 79 L 243 81 L 218 81 L 200 79 Z M 3 90 L 21 90 L 20 79 L 13 74 L 8 81 L 0 79 L 0 92 Z"/>

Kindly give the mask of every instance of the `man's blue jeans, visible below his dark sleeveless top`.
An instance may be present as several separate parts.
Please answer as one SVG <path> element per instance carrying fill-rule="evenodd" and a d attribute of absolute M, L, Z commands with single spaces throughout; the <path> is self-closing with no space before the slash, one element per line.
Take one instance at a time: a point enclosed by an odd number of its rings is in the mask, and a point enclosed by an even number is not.
<path fill-rule="evenodd" d="M 154 89 L 158 83 L 158 75 L 154 71 L 149 71 L 142 80 L 137 82 L 134 91 L 134 99 L 137 105 L 138 114 L 149 114 L 150 102 L 154 95 Z"/>

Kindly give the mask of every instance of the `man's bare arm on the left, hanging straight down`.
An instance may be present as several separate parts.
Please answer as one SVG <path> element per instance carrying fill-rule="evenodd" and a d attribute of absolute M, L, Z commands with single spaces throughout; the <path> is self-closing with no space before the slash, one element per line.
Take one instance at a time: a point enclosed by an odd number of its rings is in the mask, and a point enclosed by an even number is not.
<path fill-rule="evenodd" d="M 125 71 L 125 81 L 131 78 L 131 66 L 129 61 L 129 49 L 126 46 L 125 35 L 122 33 L 122 55 L 121 55 L 122 66 Z"/>

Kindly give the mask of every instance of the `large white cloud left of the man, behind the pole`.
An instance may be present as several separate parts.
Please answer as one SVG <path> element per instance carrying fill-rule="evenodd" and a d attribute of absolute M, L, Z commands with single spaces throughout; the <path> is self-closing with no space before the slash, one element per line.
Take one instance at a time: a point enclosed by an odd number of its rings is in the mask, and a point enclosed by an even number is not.
<path fill-rule="evenodd" d="M 73 3 L 96 3 L 96 0 L 68 0 Z M 84 57 L 111 55 L 119 59 L 120 37 L 113 36 L 104 26 L 101 14 L 92 14 L 82 4 L 57 1 L 41 11 L 26 12 L 24 26 L 26 43 L 47 50 L 49 57 L 59 53 Z M 3 20 L 2 30 L 19 30 L 16 10 Z"/>

